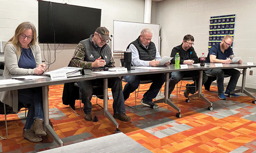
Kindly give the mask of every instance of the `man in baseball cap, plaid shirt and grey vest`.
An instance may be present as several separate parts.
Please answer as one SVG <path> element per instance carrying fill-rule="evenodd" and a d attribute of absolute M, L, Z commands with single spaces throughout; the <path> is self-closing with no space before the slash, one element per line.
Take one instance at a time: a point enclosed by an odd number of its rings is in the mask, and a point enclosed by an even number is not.
<path fill-rule="evenodd" d="M 71 66 L 82 67 L 84 69 L 115 67 L 110 47 L 107 44 L 109 40 L 111 40 L 109 30 L 105 27 L 97 28 L 94 35 L 90 35 L 90 38 L 79 42 L 70 61 Z M 103 93 L 103 79 L 79 81 L 77 84 L 80 88 L 82 103 L 84 104 L 84 119 L 91 121 L 91 98 L 92 95 L 101 95 Z M 100 88 L 93 89 L 93 86 L 100 86 Z M 111 88 L 114 99 L 113 117 L 124 122 L 129 122 L 131 118 L 125 115 L 125 101 L 121 79 L 118 77 L 109 78 L 108 88 Z"/>

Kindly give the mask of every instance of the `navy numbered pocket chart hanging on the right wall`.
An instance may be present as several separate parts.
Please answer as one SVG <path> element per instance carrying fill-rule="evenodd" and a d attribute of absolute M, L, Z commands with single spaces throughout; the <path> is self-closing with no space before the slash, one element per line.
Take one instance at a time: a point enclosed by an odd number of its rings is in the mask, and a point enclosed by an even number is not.
<path fill-rule="evenodd" d="M 211 17 L 209 30 L 209 50 L 213 45 L 220 43 L 225 35 L 234 37 L 235 17 L 235 14 Z M 233 48 L 233 43 L 230 46 L 231 48 Z"/>

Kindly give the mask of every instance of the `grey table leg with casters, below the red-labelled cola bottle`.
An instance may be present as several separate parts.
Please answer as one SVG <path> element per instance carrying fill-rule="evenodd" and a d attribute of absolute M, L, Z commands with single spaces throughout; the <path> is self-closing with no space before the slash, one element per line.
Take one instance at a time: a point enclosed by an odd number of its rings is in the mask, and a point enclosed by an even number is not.
<path fill-rule="evenodd" d="M 198 93 L 194 95 L 190 95 L 187 98 L 201 98 L 205 102 L 209 103 L 211 106 L 208 107 L 209 110 L 212 110 L 212 102 L 208 100 L 203 94 L 202 94 L 202 82 L 203 82 L 203 70 L 199 70 L 199 84 L 198 84 Z"/>

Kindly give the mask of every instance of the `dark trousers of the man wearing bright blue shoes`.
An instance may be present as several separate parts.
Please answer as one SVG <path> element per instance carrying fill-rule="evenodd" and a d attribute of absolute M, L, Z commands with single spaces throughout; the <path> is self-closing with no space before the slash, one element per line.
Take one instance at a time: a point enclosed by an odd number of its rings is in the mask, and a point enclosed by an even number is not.
<path fill-rule="evenodd" d="M 224 75 L 230 75 L 231 78 L 228 82 L 226 91 L 231 92 L 236 89 L 237 81 L 240 76 L 240 71 L 236 69 L 212 69 L 205 71 L 206 74 L 210 74 L 217 77 L 218 94 L 224 94 Z"/>

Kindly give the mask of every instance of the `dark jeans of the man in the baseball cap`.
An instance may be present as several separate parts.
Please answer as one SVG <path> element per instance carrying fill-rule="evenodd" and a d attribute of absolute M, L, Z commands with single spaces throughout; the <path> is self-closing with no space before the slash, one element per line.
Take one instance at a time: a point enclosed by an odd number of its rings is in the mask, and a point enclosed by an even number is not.
<path fill-rule="evenodd" d="M 97 90 L 100 90 L 100 93 L 103 93 L 103 79 L 94 79 L 87 81 L 79 81 L 78 86 L 80 88 L 80 96 L 82 103 L 84 104 L 84 113 L 90 114 L 92 111 L 92 95 L 99 95 Z M 97 90 L 93 90 L 94 86 L 100 86 Z M 122 93 L 122 81 L 118 77 L 108 79 L 108 88 L 111 88 L 113 96 L 113 110 L 114 114 L 125 114 L 125 101 L 124 95 Z"/>

